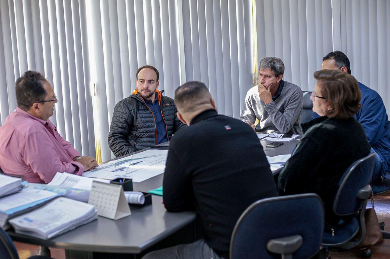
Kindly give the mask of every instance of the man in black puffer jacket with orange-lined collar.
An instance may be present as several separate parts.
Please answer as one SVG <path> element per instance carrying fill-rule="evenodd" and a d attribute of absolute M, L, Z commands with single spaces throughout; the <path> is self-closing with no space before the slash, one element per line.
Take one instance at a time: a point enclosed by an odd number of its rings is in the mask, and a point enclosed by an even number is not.
<path fill-rule="evenodd" d="M 116 157 L 167 142 L 184 126 L 172 98 L 158 91 L 160 73 L 154 66 L 137 70 L 137 89 L 115 105 L 108 145 Z"/>

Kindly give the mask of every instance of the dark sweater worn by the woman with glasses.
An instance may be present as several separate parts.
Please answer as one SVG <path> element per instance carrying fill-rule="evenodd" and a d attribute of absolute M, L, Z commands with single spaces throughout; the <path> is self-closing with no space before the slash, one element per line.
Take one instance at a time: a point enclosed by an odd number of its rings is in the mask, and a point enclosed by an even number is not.
<path fill-rule="evenodd" d="M 324 202 L 325 221 L 335 226 L 340 217 L 332 211 L 339 180 L 371 147 L 355 118 L 319 117 L 302 124 L 305 134 L 278 178 L 281 195 L 317 193 Z"/>

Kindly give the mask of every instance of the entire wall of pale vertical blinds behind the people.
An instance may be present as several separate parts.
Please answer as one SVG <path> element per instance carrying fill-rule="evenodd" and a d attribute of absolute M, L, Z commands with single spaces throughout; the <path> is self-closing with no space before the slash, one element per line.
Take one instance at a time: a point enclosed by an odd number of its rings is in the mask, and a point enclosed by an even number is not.
<path fill-rule="evenodd" d="M 389 114 L 389 17 L 386 0 L 3 0 L 0 122 L 16 107 L 15 80 L 37 70 L 58 96 L 58 132 L 85 155 L 96 144 L 105 161 L 113 109 L 139 66 L 156 66 L 170 97 L 186 81 L 206 83 L 218 112 L 237 118 L 262 58 L 281 58 L 284 79 L 305 91 L 332 50 Z"/>

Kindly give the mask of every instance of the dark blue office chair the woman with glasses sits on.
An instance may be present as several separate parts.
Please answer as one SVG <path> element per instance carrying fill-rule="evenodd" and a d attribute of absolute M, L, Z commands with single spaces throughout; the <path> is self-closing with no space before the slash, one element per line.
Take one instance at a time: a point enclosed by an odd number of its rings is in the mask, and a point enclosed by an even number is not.
<path fill-rule="evenodd" d="M 335 228 L 326 226 L 323 246 L 330 251 L 350 250 L 359 245 L 365 236 L 364 212 L 367 199 L 371 197 L 371 177 L 374 170 L 375 153 L 359 159 L 343 174 L 333 201 L 333 212 L 344 216 Z M 347 219 L 349 218 L 349 219 Z M 361 237 L 356 234 L 361 232 Z"/>

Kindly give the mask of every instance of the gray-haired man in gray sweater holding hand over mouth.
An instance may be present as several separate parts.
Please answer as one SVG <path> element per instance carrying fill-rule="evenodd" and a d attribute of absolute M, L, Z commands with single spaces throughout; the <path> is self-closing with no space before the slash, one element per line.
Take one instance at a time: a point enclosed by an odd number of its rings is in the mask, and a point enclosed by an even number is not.
<path fill-rule="evenodd" d="M 257 132 L 302 134 L 303 109 L 301 88 L 282 80 L 284 64 L 280 58 L 261 59 L 257 86 L 249 89 L 240 120 Z M 254 125 L 259 119 L 259 124 Z"/>

